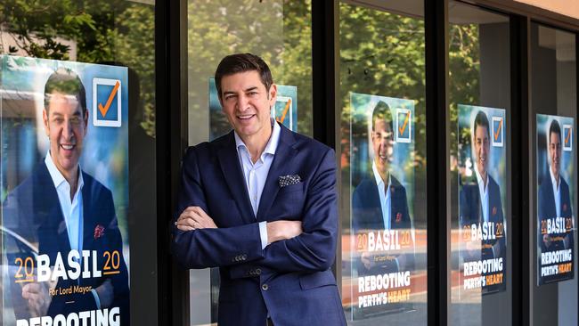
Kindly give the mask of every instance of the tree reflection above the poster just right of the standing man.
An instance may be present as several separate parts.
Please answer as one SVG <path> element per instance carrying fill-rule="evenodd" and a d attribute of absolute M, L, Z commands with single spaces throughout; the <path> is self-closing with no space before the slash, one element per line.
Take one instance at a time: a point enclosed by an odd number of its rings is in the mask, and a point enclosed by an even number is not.
<path fill-rule="evenodd" d="M 424 22 L 389 12 L 340 4 L 342 134 L 349 137 L 349 92 L 412 99 L 417 154 L 409 163 L 425 167 Z M 363 131 L 365 132 L 365 131 Z M 347 151 L 343 151 L 347 155 Z M 342 161 L 349 162 L 349 158 Z M 346 167 L 349 169 L 349 167 Z M 420 168 L 417 169 L 420 171 Z M 420 175 L 417 175 L 420 177 Z"/>

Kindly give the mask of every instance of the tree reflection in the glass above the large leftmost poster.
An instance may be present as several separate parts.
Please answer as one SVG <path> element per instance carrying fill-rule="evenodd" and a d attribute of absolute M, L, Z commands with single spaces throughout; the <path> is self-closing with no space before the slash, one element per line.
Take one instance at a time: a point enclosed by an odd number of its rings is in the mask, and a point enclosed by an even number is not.
<path fill-rule="evenodd" d="M 0 32 L 16 46 L 2 53 L 99 63 L 119 62 L 140 77 L 143 129 L 154 135 L 154 6 L 128 1 L 3 0 Z M 68 41 L 68 42 L 65 42 Z M 70 43 L 70 41 L 72 43 Z M 70 58 L 74 46 L 76 58 Z"/>

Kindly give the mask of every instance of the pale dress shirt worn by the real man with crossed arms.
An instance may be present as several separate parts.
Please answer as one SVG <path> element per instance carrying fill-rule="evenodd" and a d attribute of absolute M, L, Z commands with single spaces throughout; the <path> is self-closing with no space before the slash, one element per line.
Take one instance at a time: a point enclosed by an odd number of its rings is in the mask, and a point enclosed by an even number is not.
<path fill-rule="evenodd" d="M 239 134 L 233 133 L 235 136 L 235 145 L 237 146 L 237 156 L 240 158 L 243 177 L 245 178 L 249 200 L 251 201 L 251 208 L 253 208 L 253 214 L 255 216 L 257 216 L 257 208 L 259 208 L 261 194 L 264 191 L 265 180 L 269 174 L 270 167 L 272 167 L 273 156 L 280 142 L 281 128 L 273 119 L 271 119 L 271 121 L 273 125 L 272 135 L 269 137 L 264 152 L 261 153 L 256 163 L 253 163 L 251 160 L 248 147 L 243 143 Z M 265 249 L 265 247 L 267 247 L 267 227 L 265 221 L 259 223 L 259 236 L 261 238 L 261 248 Z"/>

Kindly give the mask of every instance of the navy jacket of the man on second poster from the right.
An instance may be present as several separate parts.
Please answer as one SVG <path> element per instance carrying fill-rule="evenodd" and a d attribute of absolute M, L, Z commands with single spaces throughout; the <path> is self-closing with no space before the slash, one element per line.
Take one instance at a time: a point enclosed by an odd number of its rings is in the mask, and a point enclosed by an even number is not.
<path fill-rule="evenodd" d="M 494 181 L 491 175 L 488 175 L 488 184 L 486 185 L 488 192 L 488 219 L 495 225 L 494 234 L 496 236 L 497 223 L 502 223 L 502 237 L 496 237 L 494 240 L 482 240 L 482 249 L 480 250 L 480 259 L 493 259 L 502 257 L 502 272 L 506 275 L 507 271 L 507 247 L 506 247 L 506 224 L 504 215 L 502 214 L 502 200 L 501 187 Z M 460 216 L 459 224 L 461 229 L 463 226 L 471 224 L 481 224 L 483 222 L 483 206 L 480 202 L 480 191 L 478 189 L 477 178 L 474 177 L 469 182 L 464 183 L 460 193 Z M 462 253 L 465 261 L 478 260 L 478 255 L 469 257 L 469 252 Z M 495 292 L 497 290 L 506 289 L 506 282 L 486 286 L 483 293 Z"/>

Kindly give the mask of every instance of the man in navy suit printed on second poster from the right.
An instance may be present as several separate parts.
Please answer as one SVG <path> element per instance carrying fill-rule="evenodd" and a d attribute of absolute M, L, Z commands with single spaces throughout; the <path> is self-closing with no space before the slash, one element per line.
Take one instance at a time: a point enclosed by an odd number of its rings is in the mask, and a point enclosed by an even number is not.
<path fill-rule="evenodd" d="M 483 240 L 471 239 L 468 242 L 477 244 L 473 249 L 463 251 L 466 261 L 485 260 L 502 257 L 502 272 L 506 271 L 506 232 L 504 228 L 504 217 L 502 215 L 501 188 L 488 173 L 490 156 L 490 126 L 488 118 L 483 111 L 478 111 L 471 137 L 473 150 L 475 152 L 475 175 L 476 178 L 465 180 L 460 193 L 460 216 L 459 223 L 461 229 L 465 226 L 469 228 L 474 224 L 479 227 L 487 227 L 487 236 L 483 235 Z M 493 225 L 488 228 L 488 225 Z M 470 229 L 469 229 L 470 230 Z M 498 231 L 498 232 L 497 232 Z M 470 236 L 471 233 L 468 235 Z M 484 233 L 481 233 L 484 234 Z M 505 282 L 486 286 L 484 293 L 504 289 Z"/>

